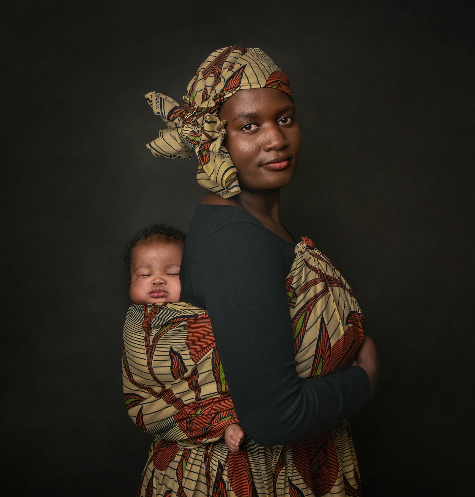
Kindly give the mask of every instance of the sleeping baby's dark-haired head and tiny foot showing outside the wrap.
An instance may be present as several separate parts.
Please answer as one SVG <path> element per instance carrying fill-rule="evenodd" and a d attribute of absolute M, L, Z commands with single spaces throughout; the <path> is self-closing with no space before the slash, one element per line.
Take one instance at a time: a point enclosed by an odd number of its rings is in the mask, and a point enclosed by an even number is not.
<path fill-rule="evenodd" d="M 142 228 L 129 242 L 124 262 L 129 274 L 129 297 L 138 305 L 180 302 L 180 264 L 185 233 L 173 226 L 154 224 Z M 230 424 L 224 441 L 237 452 L 244 441 L 239 424 Z"/>

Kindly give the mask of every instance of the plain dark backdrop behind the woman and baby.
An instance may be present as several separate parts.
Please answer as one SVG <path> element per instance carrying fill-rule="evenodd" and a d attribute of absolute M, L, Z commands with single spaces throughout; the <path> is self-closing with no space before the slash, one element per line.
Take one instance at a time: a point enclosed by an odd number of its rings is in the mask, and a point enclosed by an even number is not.
<path fill-rule="evenodd" d="M 122 400 L 122 252 L 146 224 L 186 230 L 204 194 L 195 163 L 145 148 L 162 124 L 143 95 L 180 99 L 208 53 L 233 44 L 262 48 L 290 78 L 303 147 L 283 221 L 336 263 L 379 346 L 379 390 L 352 422 L 365 495 L 470 494 L 469 7 L 3 7 L 6 495 L 134 495 L 151 438 Z"/>

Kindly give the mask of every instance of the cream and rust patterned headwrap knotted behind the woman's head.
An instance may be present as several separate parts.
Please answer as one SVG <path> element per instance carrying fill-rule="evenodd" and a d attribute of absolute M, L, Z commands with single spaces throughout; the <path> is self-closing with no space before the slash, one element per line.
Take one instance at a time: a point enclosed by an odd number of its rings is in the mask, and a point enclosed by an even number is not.
<path fill-rule="evenodd" d="M 198 183 L 221 197 L 236 195 L 241 191 L 237 169 L 223 145 L 226 122 L 216 113 L 226 98 L 250 88 L 277 88 L 292 98 L 288 78 L 259 48 L 235 45 L 216 50 L 196 71 L 181 105 L 157 91 L 145 95 L 167 123 L 147 148 L 156 157 L 185 160 L 194 150 Z"/>

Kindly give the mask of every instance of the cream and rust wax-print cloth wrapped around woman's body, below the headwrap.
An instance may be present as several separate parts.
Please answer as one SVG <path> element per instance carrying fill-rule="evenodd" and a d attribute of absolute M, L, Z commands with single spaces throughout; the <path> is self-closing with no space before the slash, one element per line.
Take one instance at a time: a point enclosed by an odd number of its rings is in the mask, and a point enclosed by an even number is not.
<path fill-rule="evenodd" d="M 308 238 L 286 280 L 297 373 L 349 366 L 363 338 L 353 291 Z M 125 406 L 154 436 L 137 496 L 360 496 L 348 421 L 264 447 L 249 435 L 238 452 L 222 438 L 239 422 L 207 311 L 186 303 L 131 304 L 123 331 Z M 249 389 L 263 388 L 256 378 Z"/>

